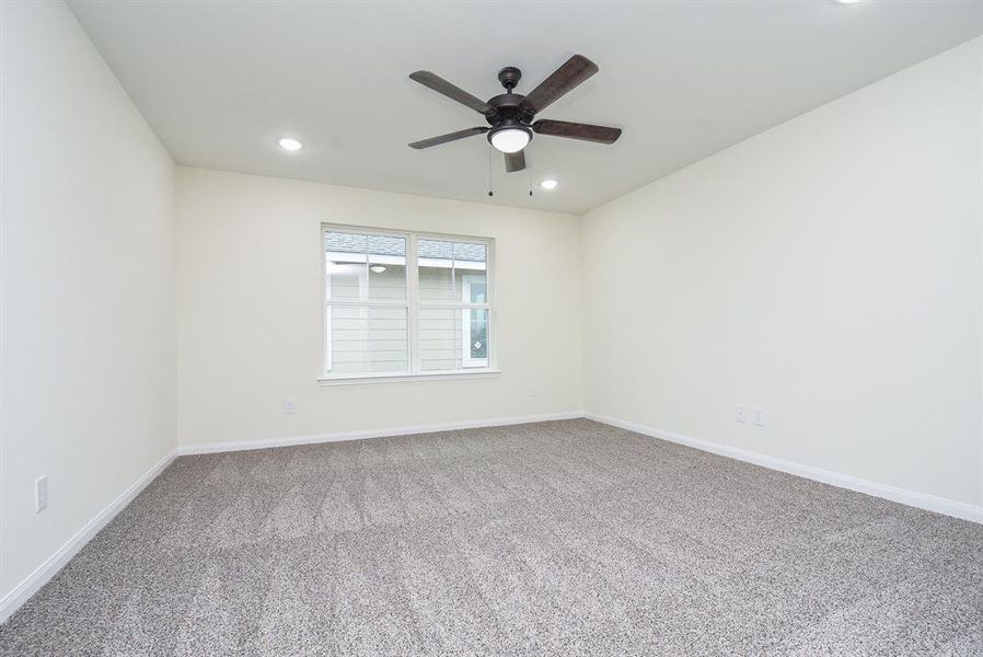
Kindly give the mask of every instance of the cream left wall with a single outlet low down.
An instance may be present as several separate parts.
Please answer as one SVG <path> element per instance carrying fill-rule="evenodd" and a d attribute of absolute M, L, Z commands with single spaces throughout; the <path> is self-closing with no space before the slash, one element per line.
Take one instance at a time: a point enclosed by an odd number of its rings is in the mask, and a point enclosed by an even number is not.
<path fill-rule="evenodd" d="M 174 166 L 62 3 L 0 3 L 0 48 L 8 593 L 176 443 Z"/>

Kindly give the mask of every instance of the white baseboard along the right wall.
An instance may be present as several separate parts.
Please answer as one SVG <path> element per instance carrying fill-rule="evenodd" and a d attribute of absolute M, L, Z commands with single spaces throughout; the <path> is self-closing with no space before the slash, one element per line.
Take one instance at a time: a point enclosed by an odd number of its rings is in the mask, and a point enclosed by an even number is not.
<path fill-rule="evenodd" d="M 758 452 L 752 452 L 745 449 L 720 445 L 719 442 L 701 440 L 699 438 L 691 438 L 690 436 L 684 436 L 682 434 L 664 431 L 662 429 L 657 429 L 655 427 L 649 427 L 634 422 L 618 419 L 616 417 L 609 417 L 606 415 L 599 415 L 597 413 L 586 413 L 585 417 L 594 422 L 611 425 L 613 427 L 628 429 L 629 431 L 635 431 L 636 434 L 643 434 L 645 436 L 651 436 L 652 438 L 669 440 L 670 442 L 676 442 L 679 445 L 685 445 L 687 447 L 693 447 L 703 451 L 720 454 L 721 457 L 729 457 L 731 459 L 745 461 L 748 463 L 754 463 L 755 465 L 762 465 L 772 470 L 780 470 L 782 472 L 787 472 L 789 474 L 795 474 L 817 482 L 822 482 L 824 484 L 839 486 L 841 488 L 848 488 L 858 493 L 866 493 L 867 495 L 874 495 L 875 497 L 882 497 L 883 499 L 890 499 L 891 502 L 898 502 L 900 504 L 917 507 L 920 509 L 935 511 L 936 514 L 944 514 L 946 516 L 952 516 L 953 518 L 961 518 L 963 520 L 983 523 L 983 507 L 973 506 L 963 502 L 956 502 L 955 499 L 937 497 L 935 495 L 928 495 L 926 493 L 917 493 L 915 491 L 909 491 L 906 488 L 899 488 L 897 486 L 879 484 L 869 480 L 849 476 L 847 474 L 840 474 L 839 472 L 832 472 L 830 470 L 822 470 L 821 468 L 802 465 L 793 461 L 786 461 L 784 459 L 777 459 L 775 457 L 767 457 L 765 454 L 760 454 Z"/>

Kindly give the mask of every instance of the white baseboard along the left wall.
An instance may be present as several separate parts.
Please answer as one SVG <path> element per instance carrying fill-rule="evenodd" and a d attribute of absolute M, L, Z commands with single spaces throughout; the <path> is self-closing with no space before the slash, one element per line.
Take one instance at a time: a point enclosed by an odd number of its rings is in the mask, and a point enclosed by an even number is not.
<path fill-rule="evenodd" d="M 116 499 L 106 505 L 95 517 L 85 523 L 76 534 L 59 548 L 55 554 L 49 556 L 43 564 L 37 566 L 31 575 L 24 578 L 21 584 L 15 586 L 9 593 L 0 598 L 0 623 L 7 622 L 7 619 L 13 614 L 21 604 L 41 590 L 48 580 L 55 576 L 58 570 L 67 564 L 71 557 L 78 554 L 79 550 L 85 546 L 92 537 L 99 533 L 106 523 L 112 520 L 116 514 L 123 510 L 132 499 L 152 482 L 157 475 L 171 464 L 177 457 L 177 450 L 171 450 L 167 456 L 158 461 L 150 470 L 140 475 L 126 491 L 120 493 Z"/>

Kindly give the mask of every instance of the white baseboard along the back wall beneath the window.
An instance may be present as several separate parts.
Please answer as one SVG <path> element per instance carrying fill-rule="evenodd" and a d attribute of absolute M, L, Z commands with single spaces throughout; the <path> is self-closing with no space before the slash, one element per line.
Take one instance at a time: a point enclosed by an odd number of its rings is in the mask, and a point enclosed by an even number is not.
<path fill-rule="evenodd" d="M 436 431 L 455 431 L 458 429 L 475 429 L 479 427 L 500 427 L 531 422 L 552 422 L 556 419 L 577 419 L 583 417 L 582 411 L 568 411 L 565 413 L 545 413 L 541 415 L 525 415 L 518 417 L 497 417 L 490 419 L 467 419 L 463 422 L 447 422 L 429 425 L 412 425 L 390 427 L 385 429 L 368 429 L 362 431 L 336 431 L 333 434 L 311 434 L 307 436 L 288 436 L 284 438 L 262 438 L 258 440 L 239 440 L 229 442 L 204 442 L 198 445 L 182 445 L 177 448 L 178 456 L 210 454 L 215 452 L 242 451 L 247 449 L 267 449 L 271 447 L 288 447 L 291 445 L 312 445 L 315 442 L 340 442 L 343 440 L 362 440 L 365 438 L 383 438 L 385 436 L 408 436 L 412 434 L 433 434 Z"/>

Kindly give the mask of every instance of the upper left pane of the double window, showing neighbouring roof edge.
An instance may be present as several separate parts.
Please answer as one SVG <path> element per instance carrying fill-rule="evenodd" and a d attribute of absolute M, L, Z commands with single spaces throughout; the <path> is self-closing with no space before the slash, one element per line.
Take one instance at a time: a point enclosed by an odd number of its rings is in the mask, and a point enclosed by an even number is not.
<path fill-rule="evenodd" d="M 325 234 L 328 299 L 406 300 L 406 240 L 392 235 Z"/>

